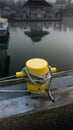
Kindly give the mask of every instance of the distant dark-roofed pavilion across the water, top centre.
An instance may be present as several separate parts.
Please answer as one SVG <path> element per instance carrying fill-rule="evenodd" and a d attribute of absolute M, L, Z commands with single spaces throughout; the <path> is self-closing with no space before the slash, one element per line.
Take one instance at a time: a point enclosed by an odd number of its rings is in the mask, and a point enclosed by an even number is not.
<path fill-rule="evenodd" d="M 23 17 L 32 19 L 47 18 L 52 5 L 45 0 L 28 0 L 23 5 Z"/>

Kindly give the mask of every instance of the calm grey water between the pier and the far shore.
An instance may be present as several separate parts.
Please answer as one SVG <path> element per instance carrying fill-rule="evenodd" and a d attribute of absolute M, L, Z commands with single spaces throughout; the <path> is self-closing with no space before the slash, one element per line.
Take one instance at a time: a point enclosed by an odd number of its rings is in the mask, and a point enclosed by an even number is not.
<path fill-rule="evenodd" d="M 58 71 L 73 69 L 73 19 L 10 23 L 8 41 L 0 43 L 0 77 L 15 74 L 35 57 Z"/>

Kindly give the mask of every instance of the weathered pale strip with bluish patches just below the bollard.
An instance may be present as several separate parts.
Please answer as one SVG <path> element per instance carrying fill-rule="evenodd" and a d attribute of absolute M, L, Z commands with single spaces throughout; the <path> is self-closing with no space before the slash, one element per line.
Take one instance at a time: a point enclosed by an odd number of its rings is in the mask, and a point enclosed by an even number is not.
<path fill-rule="evenodd" d="M 52 93 L 55 102 L 49 99 L 47 93 L 2 100 L 0 101 L 0 119 L 18 114 L 26 115 L 26 113 L 49 110 L 73 103 L 73 87 L 54 89 Z"/>

